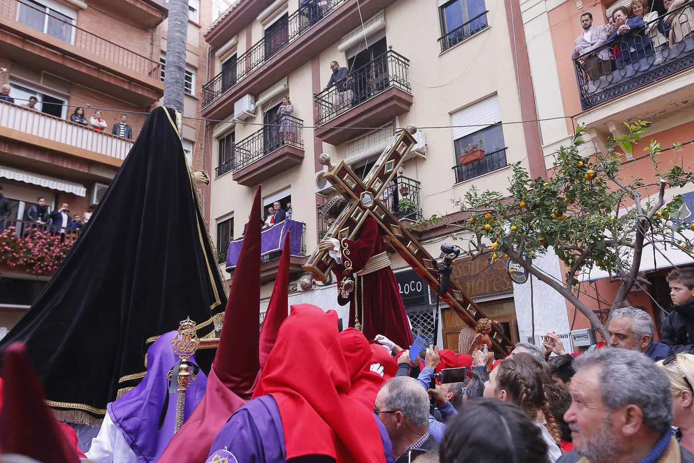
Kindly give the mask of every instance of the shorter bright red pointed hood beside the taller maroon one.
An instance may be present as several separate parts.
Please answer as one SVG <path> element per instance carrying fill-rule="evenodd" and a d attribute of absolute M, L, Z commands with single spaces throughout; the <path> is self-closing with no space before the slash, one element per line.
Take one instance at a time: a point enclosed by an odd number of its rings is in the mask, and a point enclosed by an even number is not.
<path fill-rule="evenodd" d="M 265 366 L 267 357 L 275 345 L 277 333 L 282 322 L 287 319 L 289 313 L 289 230 L 285 236 L 285 247 L 282 248 L 280 268 L 277 272 L 275 285 L 272 288 L 270 302 L 267 305 L 265 319 L 262 322 L 260 332 L 260 369 Z"/>

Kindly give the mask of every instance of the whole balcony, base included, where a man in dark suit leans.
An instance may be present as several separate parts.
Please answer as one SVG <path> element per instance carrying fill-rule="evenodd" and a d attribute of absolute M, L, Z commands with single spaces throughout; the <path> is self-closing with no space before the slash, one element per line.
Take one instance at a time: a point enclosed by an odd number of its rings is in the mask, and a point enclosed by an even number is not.
<path fill-rule="evenodd" d="M 341 144 L 405 114 L 413 101 L 408 73 L 409 60 L 389 49 L 315 94 L 316 137 Z"/>

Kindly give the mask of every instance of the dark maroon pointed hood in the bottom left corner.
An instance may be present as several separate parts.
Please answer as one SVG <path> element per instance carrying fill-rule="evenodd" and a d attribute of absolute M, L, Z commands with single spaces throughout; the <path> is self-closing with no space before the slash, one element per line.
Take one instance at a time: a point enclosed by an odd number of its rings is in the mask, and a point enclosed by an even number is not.
<path fill-rule="evenodd" d="M 46 407 L 41 382 L 20 342 L 3 352 L 0 448 L 43 463 L 78 463 L 74 445 Z"/>

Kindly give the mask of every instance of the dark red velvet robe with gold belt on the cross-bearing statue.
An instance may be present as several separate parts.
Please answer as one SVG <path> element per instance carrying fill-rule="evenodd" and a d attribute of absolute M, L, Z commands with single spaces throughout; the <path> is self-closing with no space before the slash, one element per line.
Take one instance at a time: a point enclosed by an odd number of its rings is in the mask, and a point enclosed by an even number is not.
<path fill-rule="evenodd" d="M 386 250 L 383 240 L 382 230 L 376 221 L 368 217 L 355 241 L 342 239 L 340 242 L 342 252 L 342 264 L 335 264 L 332 267 L 333 273 L 337 277 L 339 305 L 349 303 L 349 326 L 355 325 L 355 297 L 360 297 L 357 291 L 364 292 L 364 319 L 359 314 L 359 321 L 362 323 L 364 336 L 366 339 L 374 339 L 376 335 L 384 335 L 402 348 L 409 348 L 412 345 L 412 331 L 409 329 L 407 314 L 403 298 L 398 291 L 398 282 L 393 275 L 390 267 L 369 273 L 362 277 L 354 275 L 357 271 L 364 268 L 366 261 L 373 255 L 377 255 Z M 344 254 L 344 250 L 350 251 L 349 255 Z M 352 269 L 345 272 L 346 258 L 351 261 Z M 342 283 L 344 278 L 350 278 L 356 282 L 356 278 L 362 280 L 362 287 L 356 287 L 350 293 L 349 298 L 341 297 Z"/>

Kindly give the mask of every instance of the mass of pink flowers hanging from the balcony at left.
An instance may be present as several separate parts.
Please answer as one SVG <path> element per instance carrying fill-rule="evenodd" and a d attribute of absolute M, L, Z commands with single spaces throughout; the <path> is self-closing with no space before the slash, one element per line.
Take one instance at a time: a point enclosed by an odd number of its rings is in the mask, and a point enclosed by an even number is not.
<path fill-rule="evenodd" d="M 18 236 L 15 227 L 0 233 L 0 267 L 24 269 L 26 273 L 46 275 L 58 269 L 60 262 L 75 242 L 76 236 L 60 235 L 37 228 L 26 229 Z"/>

